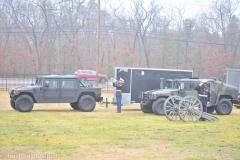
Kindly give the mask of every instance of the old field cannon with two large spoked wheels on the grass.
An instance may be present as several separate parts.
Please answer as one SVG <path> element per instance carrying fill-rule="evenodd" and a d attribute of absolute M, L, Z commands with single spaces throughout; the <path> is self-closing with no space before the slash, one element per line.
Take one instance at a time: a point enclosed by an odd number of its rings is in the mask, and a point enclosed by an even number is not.
<path fill-rule="evenodd" d="M 197 122 L 201 117 L 209 121 L 218 121 L 217 117 L 203 112 L 201 101 L 194 96 L 170 96 L 164 103 L 164 113 L 168 120 L 182 120 L 184 122 Z"/>

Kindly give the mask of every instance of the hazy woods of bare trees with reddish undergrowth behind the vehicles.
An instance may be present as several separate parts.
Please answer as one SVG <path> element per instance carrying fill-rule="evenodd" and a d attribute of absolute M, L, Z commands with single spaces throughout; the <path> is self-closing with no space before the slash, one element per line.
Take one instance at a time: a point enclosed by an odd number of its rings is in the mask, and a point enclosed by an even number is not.
<path fill-rule="evenodd" d="M 128 0 L 126 9 L 111 2 L 101 5 L 99 73 L 188 69 L 207 78 L 240 68 L 239 0 L 199 1 L 194 18 L 186 16 L 186 4 Z M 0 73 L 95 70 L 97 6 L 96 0 L 1 0 Z"/>

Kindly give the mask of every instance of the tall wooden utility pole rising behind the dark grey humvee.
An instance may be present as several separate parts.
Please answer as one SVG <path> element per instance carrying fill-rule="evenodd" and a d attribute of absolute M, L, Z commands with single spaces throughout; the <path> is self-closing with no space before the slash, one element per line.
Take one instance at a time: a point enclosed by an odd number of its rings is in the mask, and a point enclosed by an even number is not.
<path fill-rule="evenodd" d="M 98 87 L 99 53 L 100 53 L 100 0 L 98 0 L 96 87 Z"/>

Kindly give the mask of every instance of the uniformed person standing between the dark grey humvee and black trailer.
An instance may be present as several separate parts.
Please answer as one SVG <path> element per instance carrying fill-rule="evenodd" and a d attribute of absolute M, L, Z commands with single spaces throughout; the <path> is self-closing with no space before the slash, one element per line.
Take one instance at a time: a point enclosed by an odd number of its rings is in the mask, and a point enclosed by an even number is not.
<path fill-rule="evenodd" d="M 121 113 L 122 111 L 122 86 L 123 86 L 124 80 L 120 78 L 118 81 L 113 82 L 113 86 L 116 87 L 116 101 L 117 101 L 117 112 Z"/>

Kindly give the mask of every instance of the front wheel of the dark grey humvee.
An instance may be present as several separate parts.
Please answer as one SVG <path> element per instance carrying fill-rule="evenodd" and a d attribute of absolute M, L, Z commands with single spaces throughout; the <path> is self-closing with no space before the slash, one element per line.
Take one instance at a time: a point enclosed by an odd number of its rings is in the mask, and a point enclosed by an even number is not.
<path fill-rule="evenodd" d="M 29 112 L 33 108 L 33 99 L 29 95 L 21 95 L 16 99 L 16 108 L 20 112 Z"/>

